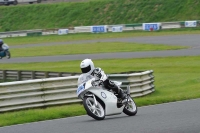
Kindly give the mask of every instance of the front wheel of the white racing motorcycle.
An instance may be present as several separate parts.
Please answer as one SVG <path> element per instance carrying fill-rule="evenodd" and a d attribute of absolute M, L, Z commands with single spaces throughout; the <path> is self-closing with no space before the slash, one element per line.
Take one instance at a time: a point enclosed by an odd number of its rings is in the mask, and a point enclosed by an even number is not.
<path fill-rule="evenodd" d="M 105 118 L 105 110 L 103 105 L 97 100 L 95 105 L 93 97 L 85 97 L 83 99 L 83 105 L 87 114 L 96 120 L 103 120 Z"/>

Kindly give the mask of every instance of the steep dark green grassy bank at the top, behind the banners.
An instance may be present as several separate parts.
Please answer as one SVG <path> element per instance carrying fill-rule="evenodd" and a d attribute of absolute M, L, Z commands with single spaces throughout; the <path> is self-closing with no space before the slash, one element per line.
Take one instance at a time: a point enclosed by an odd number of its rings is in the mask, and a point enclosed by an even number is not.
<path fill-rule="evenodd" d="M 0 7 L 0 31 L 199 20 L 199 0 L 99 0 Z"/>

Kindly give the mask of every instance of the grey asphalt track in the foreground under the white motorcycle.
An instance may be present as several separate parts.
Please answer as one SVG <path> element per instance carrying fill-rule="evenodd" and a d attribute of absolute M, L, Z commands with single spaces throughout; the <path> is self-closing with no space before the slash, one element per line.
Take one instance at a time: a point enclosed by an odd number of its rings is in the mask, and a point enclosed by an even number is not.
<path fill-rule="evenodd" d="M 141 107 L 131 117 L 72 117 L 2 127 L 0 133 L 200 133 L 199 112 L 200 99 L 195 99 Z"/>

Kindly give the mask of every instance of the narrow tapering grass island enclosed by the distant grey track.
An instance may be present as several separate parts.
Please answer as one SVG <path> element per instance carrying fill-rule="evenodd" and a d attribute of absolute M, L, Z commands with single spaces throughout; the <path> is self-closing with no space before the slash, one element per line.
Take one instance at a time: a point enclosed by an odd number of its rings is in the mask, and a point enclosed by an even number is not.
<path fill-rule="evenodd" d="M 160 45 L 138 44 L 138 43 L 128 43 L 128 42 L 97 42 L 88 44 L 69 44 L 69 45 L 55 44 L 53 46 L 13 48 L 10 50 L 10 52 L 12 53 L 13 57 L 27 57 L 27 56 L 47 56 L 47 55 L 177 50 L 183 48 L 188 48 L 188 47 L 169 46 L 161 44 Z"/>

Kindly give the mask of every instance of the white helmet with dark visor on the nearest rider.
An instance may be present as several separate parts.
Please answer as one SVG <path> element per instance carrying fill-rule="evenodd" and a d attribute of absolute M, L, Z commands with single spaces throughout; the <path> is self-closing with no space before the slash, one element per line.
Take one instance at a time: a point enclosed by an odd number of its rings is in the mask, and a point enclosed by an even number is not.
<path fill-rule="evenodd" d="M 81 67 L 82 73 L 88 73 L 88 74 L 91 74 L 93 70 L 95 69 L 94 63 L 92 62 L 91 59 L 84 59 L 81 62 L 80 67 Z"/>

